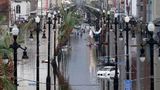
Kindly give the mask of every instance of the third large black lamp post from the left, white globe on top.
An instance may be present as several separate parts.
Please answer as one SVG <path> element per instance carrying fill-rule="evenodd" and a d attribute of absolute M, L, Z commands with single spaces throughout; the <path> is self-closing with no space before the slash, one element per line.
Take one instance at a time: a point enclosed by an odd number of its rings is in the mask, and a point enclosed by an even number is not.
<path fill-rule="evenodd" d="M 51 77 L 50 77 L 50 32 L 51 32 L 51 14 L 48 13 L 48 69 L 46 78 L 46 90 L 51 90 Z"/>

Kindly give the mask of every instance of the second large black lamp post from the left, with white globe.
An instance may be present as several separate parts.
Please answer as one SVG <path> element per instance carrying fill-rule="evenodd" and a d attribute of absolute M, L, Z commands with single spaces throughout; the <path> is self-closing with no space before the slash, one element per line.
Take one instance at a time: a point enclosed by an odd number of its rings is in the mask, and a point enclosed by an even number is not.
<path fill-rule="evenodd" d="M 37 55 L 36 55 L 36 59 L 37 59 L 37 63 L 36 63 L 36 90 L 39 90 L 39 31 L 40 31 L 40 18 L 37 16 L 35 18 L 35 22 L 37 24 L 37 29 L 36 29 L 36 38 L 37 38 Z"/>

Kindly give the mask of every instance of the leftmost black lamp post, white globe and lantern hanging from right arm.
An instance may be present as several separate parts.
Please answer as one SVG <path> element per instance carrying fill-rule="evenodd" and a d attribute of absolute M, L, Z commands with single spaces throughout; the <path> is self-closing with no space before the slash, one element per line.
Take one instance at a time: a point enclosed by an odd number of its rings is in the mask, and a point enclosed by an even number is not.
<path fill-rule="evenodd" d="M 14 25 L 14 27 L 12 28 L 12 35 L 13 35 L 13 44 L 10 45 L 10 48 L 13 49 L 13 57 L 14 57 L 14 84 L 15 84 L 15 89 L 17 90 L 17 49 L 18 48 L 21 48 L 23 51 L 23 56 L 22 56 L 22 59 L 28 59 L 28 56 L 27 56 L 27 48 L 22 48 L 21 45 L 19 45 L 17 43 L 17 35 L 19 33 L 19 29 L 17 28 L 16 25 Z"/>

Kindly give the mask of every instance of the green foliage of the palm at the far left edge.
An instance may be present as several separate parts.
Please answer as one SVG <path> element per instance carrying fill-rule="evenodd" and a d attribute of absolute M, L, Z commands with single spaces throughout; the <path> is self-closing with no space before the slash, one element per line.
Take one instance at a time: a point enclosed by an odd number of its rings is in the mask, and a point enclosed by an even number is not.
<path fill-rule="evenodd" d="M 9 57 L 12 55 L 12 49 L 10 48 L 11 35 L 9 32 L 3 31 L 0 39 L 0 56 L 2 57 L 4 53 L 7 53 Z M 7 77 L 7 65 L 0 65 L 2 76 L 0 76 L 0 81 L 3 86 L 3 90 L 15 90 L 14 84 Z"/>

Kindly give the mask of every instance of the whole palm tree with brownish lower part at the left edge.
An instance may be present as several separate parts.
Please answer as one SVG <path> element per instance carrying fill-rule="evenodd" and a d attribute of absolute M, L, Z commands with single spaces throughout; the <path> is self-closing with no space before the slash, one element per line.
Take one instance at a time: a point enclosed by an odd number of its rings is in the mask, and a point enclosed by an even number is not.
<path fill-rule="evenodd" d="M 15 90 L 13 84 L 13 60 L 11 56 L 13 51 L 9 48 L 11 43 L 9 32 L 2 32 L 0 42 L 0 90 Z M 7 64 L 4 64 L 2 60 L 4 53 L 9 56 Z"/>

